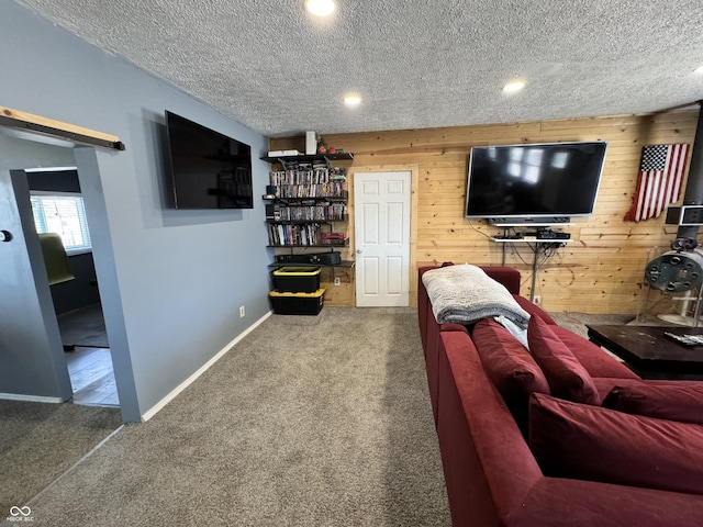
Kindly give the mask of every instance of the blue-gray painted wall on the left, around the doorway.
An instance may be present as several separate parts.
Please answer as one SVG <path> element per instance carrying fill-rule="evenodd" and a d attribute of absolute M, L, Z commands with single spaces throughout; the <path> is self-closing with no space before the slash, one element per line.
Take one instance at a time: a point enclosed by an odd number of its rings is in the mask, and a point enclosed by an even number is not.
<path fill-rule="evenodd" d="M 0 3 L 0 34 L 1 105 L 126 145 L 75 157 L 123 416 L 136 421 L 269 311 L 263 202 L 167 209 L 164 111 L 248 143 L 255 198 L 268 178 L 258 160 L 267 139 L 14 3 Z"/>

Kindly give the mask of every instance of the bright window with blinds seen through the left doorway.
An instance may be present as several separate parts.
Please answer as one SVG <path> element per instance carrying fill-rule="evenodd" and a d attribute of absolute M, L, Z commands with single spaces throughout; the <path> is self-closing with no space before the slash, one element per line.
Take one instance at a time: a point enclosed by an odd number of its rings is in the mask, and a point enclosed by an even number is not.
<path fill-rule="evenodd" d="M 37 233 L 57 233 L 68 254 L 90 250 L 90 233 L 81 195 L 35 192 L 30 201 Z"/>

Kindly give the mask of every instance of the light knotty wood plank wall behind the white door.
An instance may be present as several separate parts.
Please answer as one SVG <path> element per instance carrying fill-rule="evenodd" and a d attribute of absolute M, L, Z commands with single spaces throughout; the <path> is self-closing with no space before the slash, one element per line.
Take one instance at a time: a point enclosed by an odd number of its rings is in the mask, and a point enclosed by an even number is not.
<path fill-rule="evenodd" d="M 471 146 L 607 141 L 595 212 L 589 217 L 574 217 L 574 225 L 565 227 L 573 242 L 542 265 L 535 294 L 548 311 L 635 314 L 646 290 L 643 289 L 645 265 L 655 254 L 668 250 L 677 233 L 676 225 L 665 224 L 666 214 L 640 223 L 623 221 L 632 205 L 641 147 L 693 144 L 698 116 L 698 106 L 691 106 L 646 115 L 368 132 L 325 135 L 324 138 L 330 146 L 354 153 L 354 162 L 349 165 L 350 187 L 354 171 L 417 167 L 416 195 L 413 197 L 415 232 L 411 245 L 413 302 L 417 267 L 443 261 L 475 265 L 502 261 L 502 244 L 490 240 L 500 229 L 484 221 L 464 217 Z M 304 150 L 303 143 L 301 136 L 278 137 L 270 139 L 270 148 Z M 352 194 L 353 189 L 349 190 Z M 352 231 L 353 212 L 352 203 Z M 353 258 L 353 255 L 352 247 L 345 257 Z M 522 294 L 529 296 L 532 251 L 515 245 L 507 250 L 506 264 L 521 270 Z M 344 274 L 342 289 L 328 289 L 328 304 L 355 304 L 353 274 Z"/>

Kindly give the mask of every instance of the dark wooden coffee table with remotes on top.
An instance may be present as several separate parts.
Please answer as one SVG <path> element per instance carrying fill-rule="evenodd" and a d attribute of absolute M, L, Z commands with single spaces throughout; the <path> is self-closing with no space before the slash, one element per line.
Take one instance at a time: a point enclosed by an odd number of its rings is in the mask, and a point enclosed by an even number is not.
<path fill-rule="evenodd" d="M 643 379 L 703 379 L 703 346 L 684 346 L 665 336 L 703 335 L 703 327 L 585 326 L 589 339 L 615 354 Z"/>

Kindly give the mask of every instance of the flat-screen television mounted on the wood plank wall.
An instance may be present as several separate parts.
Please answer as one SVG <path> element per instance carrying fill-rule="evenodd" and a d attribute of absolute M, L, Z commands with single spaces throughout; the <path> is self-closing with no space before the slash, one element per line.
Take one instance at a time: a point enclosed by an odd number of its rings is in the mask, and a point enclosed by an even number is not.
<path fill-rule="evenodd" d="M 466 217 L 551 225 L 593 214 L 606 142 L 472 147 Z"/>

